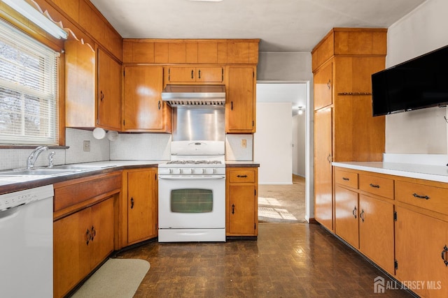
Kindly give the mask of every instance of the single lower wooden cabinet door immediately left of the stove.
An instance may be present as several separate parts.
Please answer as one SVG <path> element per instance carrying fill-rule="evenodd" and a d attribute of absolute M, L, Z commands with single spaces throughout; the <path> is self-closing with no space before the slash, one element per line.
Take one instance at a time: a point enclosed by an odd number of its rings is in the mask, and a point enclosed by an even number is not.
<path fill-rule="evenodd" d="M 157 169 L 123 171 L 122 247 L 157 237 Z"/>

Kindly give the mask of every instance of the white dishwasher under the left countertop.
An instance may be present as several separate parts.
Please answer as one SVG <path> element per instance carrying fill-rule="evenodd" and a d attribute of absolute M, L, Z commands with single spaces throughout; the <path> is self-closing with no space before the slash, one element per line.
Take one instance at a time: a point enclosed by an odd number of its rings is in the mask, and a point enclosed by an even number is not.
<path fill-rule="evenodd" d="M 53 186 L 0 195 L 0 296 L 52 297 Z"/>

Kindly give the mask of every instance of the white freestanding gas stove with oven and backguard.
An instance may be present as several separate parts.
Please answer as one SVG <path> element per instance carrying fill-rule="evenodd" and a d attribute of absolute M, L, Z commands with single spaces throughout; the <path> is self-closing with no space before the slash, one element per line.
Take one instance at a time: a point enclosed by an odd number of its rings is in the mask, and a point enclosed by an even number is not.
<path fill-rule="evenodd" d="M 159 165 L 159 242 L 225 241 L 223 141 L 172 142 Z"/>

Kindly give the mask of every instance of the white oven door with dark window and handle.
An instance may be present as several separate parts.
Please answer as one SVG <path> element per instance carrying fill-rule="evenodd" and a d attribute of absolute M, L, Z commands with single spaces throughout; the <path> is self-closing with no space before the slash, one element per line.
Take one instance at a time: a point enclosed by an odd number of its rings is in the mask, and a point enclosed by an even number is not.
<path fill-rule="evenodd" d="M 225 175 L 159 175 L 159 229 L 225 228 Z"/>

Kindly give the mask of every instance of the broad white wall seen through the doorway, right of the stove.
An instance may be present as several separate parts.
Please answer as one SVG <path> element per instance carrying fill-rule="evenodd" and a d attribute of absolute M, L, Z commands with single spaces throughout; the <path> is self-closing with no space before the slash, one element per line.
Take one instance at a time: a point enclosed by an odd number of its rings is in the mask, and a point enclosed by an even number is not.
<path fill-rule="evenodd" d="M 292 184 L 291 103 L 257 103 L 253 158 L 260 163 L 259 184 Z"/>

